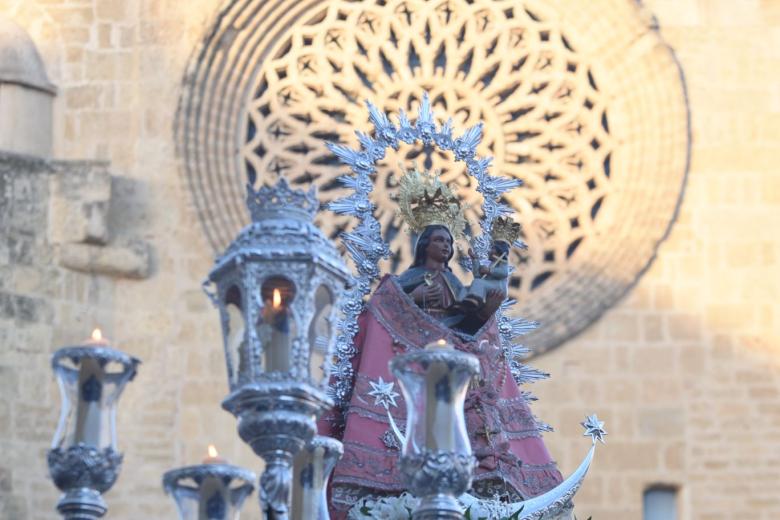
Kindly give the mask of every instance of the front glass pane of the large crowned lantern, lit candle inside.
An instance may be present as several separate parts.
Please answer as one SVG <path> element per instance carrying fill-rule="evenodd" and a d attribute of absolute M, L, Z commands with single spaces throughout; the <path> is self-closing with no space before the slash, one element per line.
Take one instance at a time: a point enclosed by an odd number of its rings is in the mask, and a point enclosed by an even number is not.
<path fill-rule="evenodd" d="M 288 372 L 296 324 L 290 305 L 295 300 L 295 285 L 281 276 L 268 278 L 262 286 L 263 307 L 257 321 L 257 335 L 265 372 Z"/>

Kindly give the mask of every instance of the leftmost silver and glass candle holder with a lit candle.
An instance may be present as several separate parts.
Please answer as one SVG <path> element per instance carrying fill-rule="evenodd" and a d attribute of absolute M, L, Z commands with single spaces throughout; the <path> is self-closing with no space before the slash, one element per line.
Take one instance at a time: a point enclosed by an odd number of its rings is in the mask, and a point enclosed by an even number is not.
<path fill-rule="evenodd" d="M 70 520 L 102 517 L 102 493 L 122 465 L 117 450 L 116 406 L 140 361 L 108 346 L 96 329 L 86 344 L 59 349 L 52 369 L 62 397 L 48 453 L 49 473 L 63 491 L 57 511 Z"/>

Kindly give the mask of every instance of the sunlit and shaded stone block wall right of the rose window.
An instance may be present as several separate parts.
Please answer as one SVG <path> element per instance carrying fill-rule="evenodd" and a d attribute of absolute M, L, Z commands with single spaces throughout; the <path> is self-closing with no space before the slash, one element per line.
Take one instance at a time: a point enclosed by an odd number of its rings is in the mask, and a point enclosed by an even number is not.
<path fill-rule="evenodd" d="M 682 518 L 780 516 L 780 4 L 646 2 L 684 70 L 693 149 L 677 223 L 602 320 L 536 360 L 548 436 L 570 470 L 580 416 L 608 445 L 580 515 L 641 518 L 645 486 L 680 488 Z"/>

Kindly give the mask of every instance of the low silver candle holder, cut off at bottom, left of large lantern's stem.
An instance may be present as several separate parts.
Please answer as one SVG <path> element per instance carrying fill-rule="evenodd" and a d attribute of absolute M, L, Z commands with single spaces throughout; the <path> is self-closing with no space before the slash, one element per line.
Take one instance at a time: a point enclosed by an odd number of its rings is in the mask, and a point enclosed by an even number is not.
<path fill-rule="evenodd" d="M 176 501 L 179 520 L 238 520 L 244 500 L 254 491 L 254 473 L 227 464 L 212 450 L 209 446 L 203 464 L 163 475 L 163 489 Z"/>

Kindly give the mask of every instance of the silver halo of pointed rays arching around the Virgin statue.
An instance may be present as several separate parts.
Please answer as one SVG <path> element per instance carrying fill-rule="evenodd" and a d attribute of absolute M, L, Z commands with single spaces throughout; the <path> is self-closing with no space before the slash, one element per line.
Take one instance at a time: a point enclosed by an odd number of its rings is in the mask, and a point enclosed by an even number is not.
<path fill-rule="evenodd" d="M 336 406 L 343 408 L 349 402 L 352 393 L 354 370 L 351 360 L 357 353 L 353 339 L 358 331 L 357 319 L 364 308 L 364 299 L 371 292 L 378 280 L 380 260 L 389 258 L 390 246 L 382 237 L 381 225 L 374 215 L 376 206 L 371 202 L 371 192 L 374 189 L 372 175 L 376 166 L 384 159 L 388 148 L 398 150 L 401 143 L 433 146 L 439 150 L 452 152 L 455 161 L 463 162 L 466 171 L 477 182 L 477 192 L 482 195 L 482 217 L 479 221 L 479 234 L 472 238 L 474 252 L 484 260 L 490 249 L 490 235 L 493 221 L 501 216 L 510 216 L 514 210 L 501 202 L 505 193 L 518 188 L 522 181 L 501 175 L 491 175 L 489 168 L 492 157 L 476 156 L 476 148 L 482 140 L 482 123 L 478 123 L 463 135 L 453 138 L 452 119 L 439 123 L 433 115 L 428 93 L 425 92 L 420 101 L 417 119 L 412 123 L 407 114 L 399 111 L 398 124 L 366 101 L 369 121 L 373 125 L 371 135 L 356 131 L 360 147 L 352 149 L 336 143 L 327 143 L 341 163 L 349 166 L 351 174 L 339 177 L 339 182 L 346 188 L 347 195 L 330 202 L 327 208 L 339 215 L 354 217 L 358 224 L 352 231 L 343 232 L 339 238 L 352 259 L 357 275 L 348 290 L 345 303 L 341 307 L 341 317 L 337 324 L 336 351 L 332 360 L 333 382 L 329 389 L 330 396 Z M 517 241 L 513 244 L 524 248 L 525 244 Z M 462 258 L 465 269 L 470 268 L 470 259 Z M 515 382 L 520 385 L 531 383 L 549 377 L 540 370 L 521 362 L 531 351 L 518 343 L 518 339 L 538 327 L 538 323 L 518 317 L 510 317 L 509 310 L 516 303 L 507 300 L 496 312 L 499 333 L 504 355 L 509 363 Z M 536 398 L 530 392 L 523 392 L 526 401 Z M 549 431 L 550 427 L 539 422 L 539 430 Z"/>

